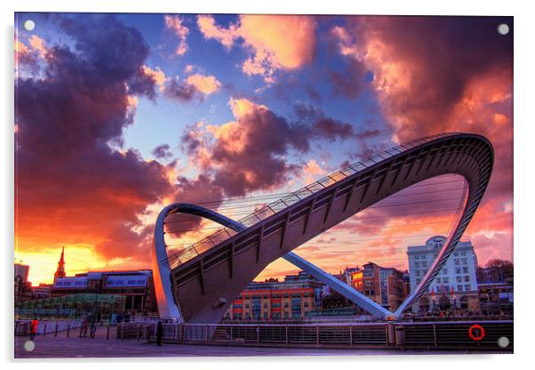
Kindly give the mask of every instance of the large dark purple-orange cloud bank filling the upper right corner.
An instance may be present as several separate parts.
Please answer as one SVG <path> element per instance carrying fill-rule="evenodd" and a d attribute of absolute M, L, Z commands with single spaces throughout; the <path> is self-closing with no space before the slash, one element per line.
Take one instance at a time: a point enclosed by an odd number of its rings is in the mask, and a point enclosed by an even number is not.
<path fill-rule="evenodd" d="M 503 205 L 513 191 L 513 38 L 499 35 L 496 27 L 509 20 L 367 17 L 331 29 L 339 53 L 359 71 L 348 85 L 362 84 L 364 71 L 371 71 L 395 141 L 448 131 L 481 133 L 491 140 L 496 164 L 482 207 L 492 204 L 499 213 L 493 214 L 505 218 L 507 226 L 500 230 L 510 236 L 507 249 L 512 248 L 512 213 Z M 492 229 L 480 220 L 486 220 L 482 210 L 467 237 Z"/>

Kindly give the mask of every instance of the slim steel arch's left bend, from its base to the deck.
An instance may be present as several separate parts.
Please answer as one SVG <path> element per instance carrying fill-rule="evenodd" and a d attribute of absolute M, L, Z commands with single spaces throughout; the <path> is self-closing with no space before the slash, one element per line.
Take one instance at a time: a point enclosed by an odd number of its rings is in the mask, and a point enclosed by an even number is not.
<path fill-rule="evenodd" d="M 152 247 L 152 270 L 158 312 L 160 317 L 178 318 L 179 321 L 183 321 L 184 318 L 182 318 L 180 313 L 178 301 L 176 298 L 173 299 L 171 269 L 168 264 L 164 263 L 167 258 L 164 240 L 165 217 L 173 213 L 195 214 L 199 217 L 218 222 L 220 225 L 236 231 L 242 231 L 246 228 L 240 222 L 229 219 L 220 213 L 213 212 L 200 205 L 191 205 L 188 203 L 173 203 L 172 205 L 167 205 L 158 214 Z"/>

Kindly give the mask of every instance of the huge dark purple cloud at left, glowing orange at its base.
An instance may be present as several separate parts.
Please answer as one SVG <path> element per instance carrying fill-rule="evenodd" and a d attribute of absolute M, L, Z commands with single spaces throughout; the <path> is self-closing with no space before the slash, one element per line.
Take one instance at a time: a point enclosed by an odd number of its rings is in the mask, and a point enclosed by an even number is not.
<path fill-rule="evenodd" d="M 17 79 L 19 248 L 90 244 L 110 263 L 147 266 L 148 230 L 132 228 L 147 205 L 172 194 L 168 168 L 109 144 L 120 148 L 132 125 L 132 81 L 148 47 L 136 29 L 112 16 L 58 17 L 57 25 L 74 48 L 44 49 L 31 38 L 33 48 L 46 51 L 44 76 Z M 151 94 L 148 87 L 137 90 Z"/>

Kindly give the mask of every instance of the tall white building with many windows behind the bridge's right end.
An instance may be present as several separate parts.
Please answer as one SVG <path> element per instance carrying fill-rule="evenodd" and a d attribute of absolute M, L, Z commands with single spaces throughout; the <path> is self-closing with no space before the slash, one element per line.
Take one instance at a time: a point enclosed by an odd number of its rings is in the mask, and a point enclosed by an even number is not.
<path fill-rule="evenodd" d="M 446 237 L 435 236 L 427 239 L 425 245 L 409 245 L 407 255 L 409 257 L 411 292 L 416 289 L 426 275 L 427 269 L 433 265 L 445 242 Z M 476 269 L 477 256 L 474 246 L 469 241 L 459 242 L 440 273 L 433 280 L 433 284 L 429 286 L 428 293 L 433 293 L 432 296 L 437 301 L 435 303 L 428 300 L 420 302 L 415 304 L 412 310 L 419 311 L 420 306 L 433 308 L 432 304 L 435 304 L 437 308 L 444 309 L 454 302 L 456 307 L 469 310 L 470 295 L 477 292 Z M 421 309 L 423 310 L 424 307 Z"/>

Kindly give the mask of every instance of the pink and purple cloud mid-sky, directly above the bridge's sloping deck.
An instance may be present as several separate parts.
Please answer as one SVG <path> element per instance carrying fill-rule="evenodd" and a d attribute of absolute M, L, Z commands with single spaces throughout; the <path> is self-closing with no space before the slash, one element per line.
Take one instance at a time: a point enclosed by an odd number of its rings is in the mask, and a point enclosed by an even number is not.
<path fill-rule="evenodd" d="M 181 140 L 201 171 L 211 173 L 213 183 L 228 196 L 281 187 L 299 170 L 299 164 L 286 158 L 291 150 L 304 153 L 315 139 L 347 139 L 352 134 L 350 125 L 315 117 L 317 112 L 291 124 L 268 107 L 246 99 L 233 99 L 229 105 L 235 121 L 200 123 L 189 127 Z M 306 122 L 310 117 L 314 119 Z"/>

